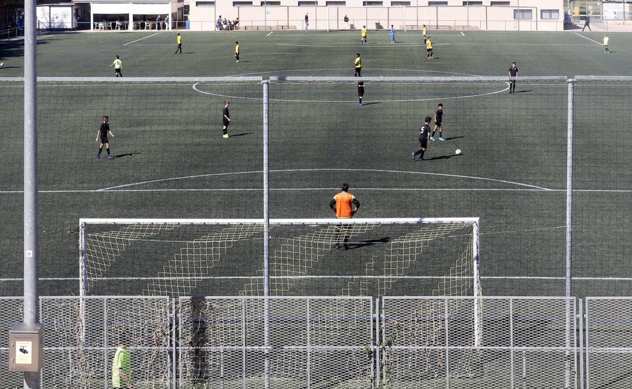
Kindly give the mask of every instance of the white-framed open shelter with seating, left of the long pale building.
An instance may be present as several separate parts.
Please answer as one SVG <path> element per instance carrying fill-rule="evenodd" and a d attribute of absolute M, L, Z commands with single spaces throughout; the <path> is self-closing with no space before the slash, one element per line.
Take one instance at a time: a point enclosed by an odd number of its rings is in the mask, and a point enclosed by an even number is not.
<path fill-rule="evenodd" d="M 95 29 L 94 15 L 125 14 L 130 15 L 130 30 L 134 29 L 134 15 L 168 15 L 169 23 L 166 23 L 166 29 L 171 30 L 171 0 L 139 0 L 126 3 L 122 0 L 74 0 L 73 3 L 90 4 L 90 30 Z M 165 22 L 164 16 L 161 20 L 162 23 Z M 155 21 L 147 21 L 146 23 L 153 23 L 153 25 L 155 25 Z"/>

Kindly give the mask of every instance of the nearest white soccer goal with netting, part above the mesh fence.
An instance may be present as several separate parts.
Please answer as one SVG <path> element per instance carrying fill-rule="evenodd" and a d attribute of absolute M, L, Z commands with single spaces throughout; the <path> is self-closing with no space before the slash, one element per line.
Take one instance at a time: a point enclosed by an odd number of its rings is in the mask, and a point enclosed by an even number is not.
<path fill-rule="evenodd" d="M 81 219 L 80 294 L 480 296 L 478 223 Z"/>

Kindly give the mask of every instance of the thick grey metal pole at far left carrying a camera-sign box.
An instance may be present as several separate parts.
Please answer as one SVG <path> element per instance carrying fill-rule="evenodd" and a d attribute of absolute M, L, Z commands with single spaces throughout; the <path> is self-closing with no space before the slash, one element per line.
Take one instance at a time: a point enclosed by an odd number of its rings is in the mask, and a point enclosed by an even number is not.
<path fill-rule="evenodd" d="M 37 250 L 37 18 L 35 0 L 24 4 L 24 322 L 39 323 Z M 39 389 L 39 371 L 24 373 L 24 388 Z"/>

